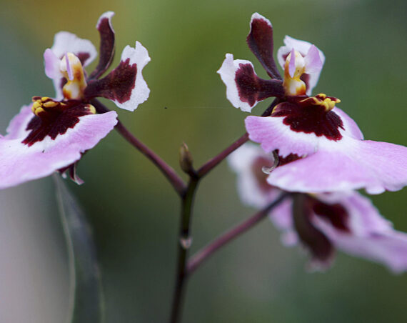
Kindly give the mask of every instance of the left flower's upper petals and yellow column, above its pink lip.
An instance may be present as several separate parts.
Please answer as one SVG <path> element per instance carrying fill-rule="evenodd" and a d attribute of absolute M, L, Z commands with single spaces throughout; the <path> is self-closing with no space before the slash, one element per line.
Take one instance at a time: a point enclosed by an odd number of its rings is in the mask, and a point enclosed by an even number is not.
<path fill-rule="evenodd" d="M 114 57 L 114 29 L 108 11 L 101 15 L 98 29 L 100 59 L 89 77 L 84 71 L 96 57 L 91 41 L 80 39 L 67 31 L 55 35 L 54 45 L 44 52 L 45 73 L 54 81 L 56 99 L 89 101 L 97 96 L 114 101 L 121 109 L 134 111 L 149 97 L 150 90 L 141 71 L 150 61 L 146 48 L 136 41 L 136 46 L 126 46 L 121 53 L 119 66 L 100 79 L 109 69 Z"/>

